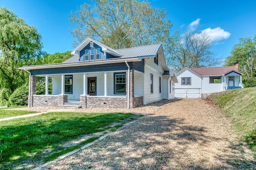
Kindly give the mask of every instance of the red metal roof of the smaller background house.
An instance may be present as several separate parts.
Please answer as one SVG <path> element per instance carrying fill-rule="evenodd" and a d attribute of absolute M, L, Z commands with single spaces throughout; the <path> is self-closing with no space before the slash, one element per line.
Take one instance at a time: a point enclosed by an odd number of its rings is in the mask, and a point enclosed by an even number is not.
<path fill-rule="evenodd" d="M 190 68 L 194 72 L 200 74 L 201 76 L 221 76 L 231 71 L 238 72 L 236 66 L 222 66 L 222 67 L 206 67 L 206 68 Z M 240 72 L 238 72 L 240 73 Z M 242 74 L 242 73 L 240 73 Z"/>

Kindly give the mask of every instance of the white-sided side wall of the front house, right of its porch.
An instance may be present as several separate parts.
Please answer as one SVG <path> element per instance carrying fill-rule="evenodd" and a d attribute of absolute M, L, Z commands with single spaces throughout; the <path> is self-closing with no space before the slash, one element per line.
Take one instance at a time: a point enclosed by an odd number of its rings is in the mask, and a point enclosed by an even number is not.
<path fill-rule="evenodd" d="M 153 74 L 153 93 L 150 93 L 150 74 Z M 162 78 L 163 72 L 159 72 L 154 68 L 145 65 L 144 72 L 144 104 L 148 104 L 150 102 L 156 102 L 158 100 L 162 100 L 164 97 L 163 92 L 159 93 L 159 77 Z"/>

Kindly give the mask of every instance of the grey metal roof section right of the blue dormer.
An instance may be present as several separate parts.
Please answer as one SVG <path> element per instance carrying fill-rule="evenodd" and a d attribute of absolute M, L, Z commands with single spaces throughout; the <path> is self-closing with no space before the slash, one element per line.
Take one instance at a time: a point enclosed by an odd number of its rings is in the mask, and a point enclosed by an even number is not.
<path fill-rule="evenodd" d="M 156 56 L 160 47 L 161 47 L 161 44 L 154 44 L 154 45 L 145 45 L 141 47 L 117 49 L 116 51 L 118 51 L 118 53 L 120 53 L 122 57 L 150 57 L 150 56 Z"/>

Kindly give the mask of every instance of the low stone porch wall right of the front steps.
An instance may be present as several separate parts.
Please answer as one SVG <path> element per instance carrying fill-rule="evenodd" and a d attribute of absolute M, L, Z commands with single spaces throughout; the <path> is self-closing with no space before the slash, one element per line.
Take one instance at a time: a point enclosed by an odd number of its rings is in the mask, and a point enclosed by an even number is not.
<path fill-rule="evenodd" d="M 127 99 L 115 97 L 86 97 L 87 108 L 92 107 L 114 107 L 127 108 Z"/>

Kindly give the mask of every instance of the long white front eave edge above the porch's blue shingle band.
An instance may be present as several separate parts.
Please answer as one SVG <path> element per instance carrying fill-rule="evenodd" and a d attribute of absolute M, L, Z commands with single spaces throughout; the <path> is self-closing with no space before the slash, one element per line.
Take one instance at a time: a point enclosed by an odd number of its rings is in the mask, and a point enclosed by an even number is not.
<path fill-rule="evenodd" d="M 38 69 L 47 69 L 47 68 L 63 68 L 63 67 L 72 67 L 72 66 L 88 66 L 88 65 L 98 65 L 98 64 L 111 64 L 111 63 L 124 63 L 133 62 L 133 61 L 141 61 L 138 57 L 134 58 L 115 58 L 115 59 L 107 59 L 100 61 L 83 61 L 78 63 L 58 63 L 58 64 L 44 64 L 44 65 L 35 65 L 35 66 L 24 66 L 19 67 L 20 70 L 38 70 Z"/>

